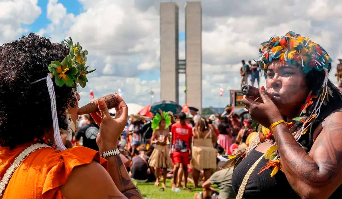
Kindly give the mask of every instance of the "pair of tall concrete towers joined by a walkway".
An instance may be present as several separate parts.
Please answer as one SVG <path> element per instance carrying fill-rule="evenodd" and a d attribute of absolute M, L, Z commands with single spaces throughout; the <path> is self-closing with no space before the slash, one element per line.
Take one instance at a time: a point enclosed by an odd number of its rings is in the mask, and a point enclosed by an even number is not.
<path fill-rule="evenodd" d="M 185 4 L 185 59 L 179 59 L 179 7 L 160 3 L 160 98 L 179 102 L 179 74 L 186 74 L 186 103 L 202 108 L 202 8 Z"/>

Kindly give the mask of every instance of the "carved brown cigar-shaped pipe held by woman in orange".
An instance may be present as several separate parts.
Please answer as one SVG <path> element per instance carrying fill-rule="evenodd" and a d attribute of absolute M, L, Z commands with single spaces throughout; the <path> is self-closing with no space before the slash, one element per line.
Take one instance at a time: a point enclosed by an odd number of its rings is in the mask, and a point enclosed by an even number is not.
<path fill-rule="evenodd" d="M 91 101 L 90 103 L 88 103 L 87 105 L 82 106 L 79 110 L 78 110 L 78 115 L 84 115 L 84 114 L 90 114 L 90 113 L 96 113 L 98 112 L 98 100 L 101 98 L 98 98 L 94 101 Z M 114 94 L 109 94 L 106 95 L 104 97 L 102 97 L 102 99 L 106 102 L 108 109 L 112 109 L 115 106 L 118 105 L 118 100 L 116 99 Z"/>

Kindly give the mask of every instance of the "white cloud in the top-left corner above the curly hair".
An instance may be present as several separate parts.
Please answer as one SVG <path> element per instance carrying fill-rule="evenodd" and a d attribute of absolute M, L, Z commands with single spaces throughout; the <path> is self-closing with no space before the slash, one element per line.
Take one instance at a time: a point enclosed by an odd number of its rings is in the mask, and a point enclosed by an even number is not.
<path fill-rule="evenodd" d="M 27 32 L 23 25 L 32 24 L 41 13 L 38 0 L 2 0 L 0 8 L 1 44 Z"/>

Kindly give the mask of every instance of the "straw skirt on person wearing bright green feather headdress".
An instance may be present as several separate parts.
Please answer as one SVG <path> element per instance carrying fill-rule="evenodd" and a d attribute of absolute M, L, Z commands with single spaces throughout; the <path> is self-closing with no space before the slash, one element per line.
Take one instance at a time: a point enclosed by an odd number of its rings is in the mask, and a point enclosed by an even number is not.
<path fill-rule="evenodd" d="M 167 145 L 156 145 L 149 160 L 150 167 L 168 168 L 171 166 L 171 158 L 169 157 L 169 148 Z"/>

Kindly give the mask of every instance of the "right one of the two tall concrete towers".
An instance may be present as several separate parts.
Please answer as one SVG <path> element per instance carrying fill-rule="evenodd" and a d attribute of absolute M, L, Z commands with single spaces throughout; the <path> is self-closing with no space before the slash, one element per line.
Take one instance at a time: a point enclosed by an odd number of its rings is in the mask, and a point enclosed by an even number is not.
<path fill-rule="evenodd" d="M 201 2 L 185 5 L 186 103 L 202 109 L 202 8 Z"/>

